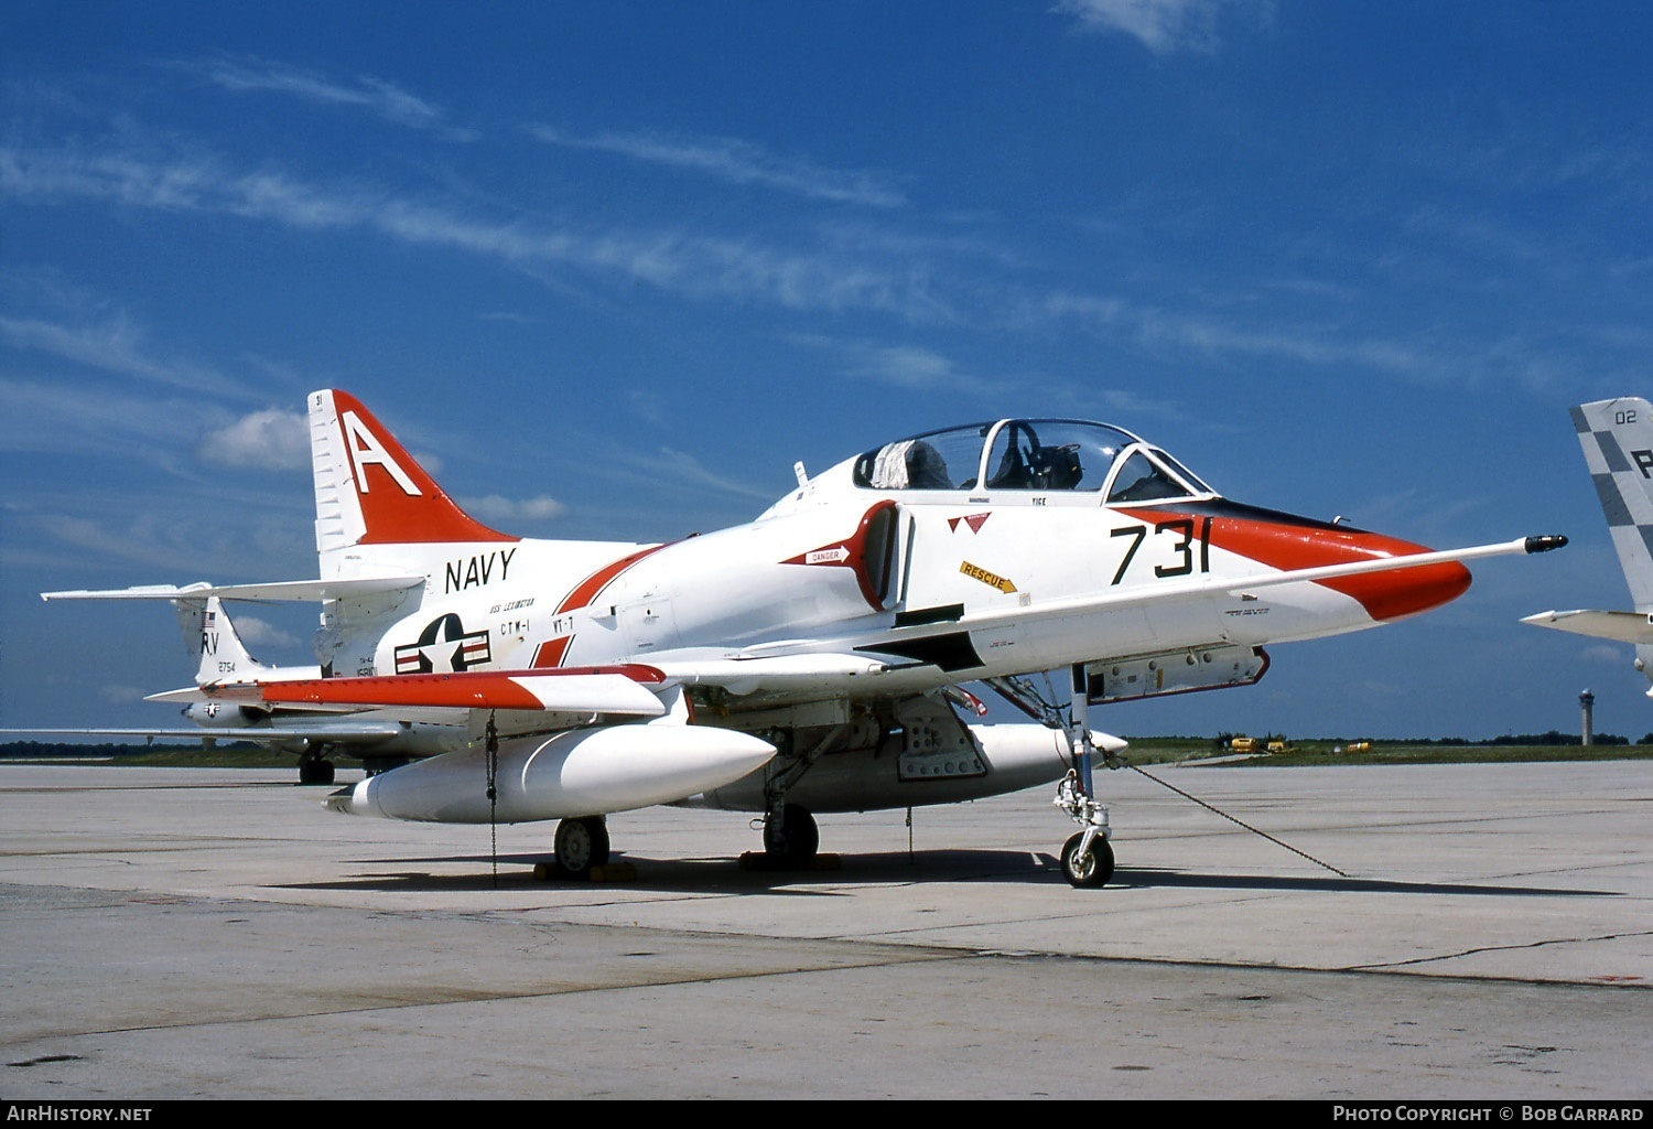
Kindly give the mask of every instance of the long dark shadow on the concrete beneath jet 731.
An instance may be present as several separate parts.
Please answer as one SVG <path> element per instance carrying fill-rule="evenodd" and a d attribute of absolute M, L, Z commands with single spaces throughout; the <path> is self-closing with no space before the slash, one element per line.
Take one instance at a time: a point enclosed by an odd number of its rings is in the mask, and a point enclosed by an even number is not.
<path fill-rule="evenodd" d="M 831 858 L 831 856 L 826 856 Z M 772 893 L 840 896 L 831 886 L 911 886 L 929 883 L 1025 883 L 1065 884 L 1061 865 L 1046 853 L 1003 850 L 931 850 L 914 853 L 845 855 L 836 866 L 815 869 L 747 869 L 736 858 L 626 858 L 635 876 L 607 883 L 541 879 L 537 863 L 549 855 L 443 855 L 430 858 L 362 860 L 365 865 L 398 866 L 390 873 L 364 873 L 322 883 L 283 883 L 283 889 L 379 889 L 379 891 L 463 891 L 491 888 L 547 888 L 565 891 L 646 891 L 646 893 Z M 498 878 L 493 865 L 498 863 Z M 464 866 L 458 873 L 407 869 L 408 866 Z M 1613 889 L 1564 889 L 1555 886 L 1491 886 L 1479 883 L 1403 881 L 1393 878 L 1222 874 L 1162 868 L 1119 868 L 1109 889 L 1240 889 L 1312 891 L 1360 894 L 1451 894 L 1498 898 L 1618 898 Z"/>

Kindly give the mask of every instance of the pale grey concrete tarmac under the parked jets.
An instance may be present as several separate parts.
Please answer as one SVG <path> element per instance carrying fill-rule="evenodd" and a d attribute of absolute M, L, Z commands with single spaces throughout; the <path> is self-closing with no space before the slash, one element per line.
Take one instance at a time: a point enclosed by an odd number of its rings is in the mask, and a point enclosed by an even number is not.
<path fill-rule="evenodd" d="M 1053 788 L 792 874 L 620 813 L 567 884 L 550 825 L 0 765 L 0 1098 L 1650 1098 L 1653 762 L 1150 772 L 1347 878 L 1129 770 L 1074 891 Z"/>

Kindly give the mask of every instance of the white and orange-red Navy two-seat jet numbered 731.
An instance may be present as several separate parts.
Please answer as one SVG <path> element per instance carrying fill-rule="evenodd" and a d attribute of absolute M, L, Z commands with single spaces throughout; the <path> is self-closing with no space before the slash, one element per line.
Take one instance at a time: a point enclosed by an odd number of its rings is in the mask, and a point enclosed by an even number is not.
<path fill-rule="evenodd" d="M 321 732 L 448 727 L 458 747 L 327 805 L 560 820 L 572 874 L 607 861 L 610 812 L 759 812 L 765 851 L 797 861 L 817 851 L 817 812 L 1060 780 L 1081 828 L 1063 873 L 1101 886 L 1112 848 L 1091 760 L 1117 764 L 1124 742 L 1091 731 L 1091 706 L 1251 684 L 1265 643 L 1427 612 L 1468 588 L 1465 560 L 1565 544 L 1431 552 L 1241 506 L 1136 435 L 1078 420 L 931 431 L 813 478 L 798 466 L 795 491 L 714 534 L 539 541 L 468 516 L 350 395 L 314 392 L 309 425 L 319 579 L 48 598 L 213 615 L 222 600 L 319 602 L 317 668 L 261 668 L 235 646 L 159 698 L 304 711 Z M 1051 673 L 1045 693 L 1030 681 Z M 965 681 L 1038 724 L 969 724 Z"/>

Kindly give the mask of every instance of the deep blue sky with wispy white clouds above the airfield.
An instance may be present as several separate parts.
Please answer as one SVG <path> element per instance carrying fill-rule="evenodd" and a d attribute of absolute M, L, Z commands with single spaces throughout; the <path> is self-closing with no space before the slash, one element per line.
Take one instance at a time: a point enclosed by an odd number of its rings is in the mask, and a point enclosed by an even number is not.
<path fill-rule="evenodd" d="M 1074 415 L 1484 562 L 1126 734 L 1653 729 L 1567 407 L 1653 395 L 1620 3 L 0 8 L 0 724 L 165 724 L 164 607 L 314 575 L 311 388 L 478 516 L 661 541 L 884 440 Z M 306 661 L 311 610 L 243 612 Z"/>

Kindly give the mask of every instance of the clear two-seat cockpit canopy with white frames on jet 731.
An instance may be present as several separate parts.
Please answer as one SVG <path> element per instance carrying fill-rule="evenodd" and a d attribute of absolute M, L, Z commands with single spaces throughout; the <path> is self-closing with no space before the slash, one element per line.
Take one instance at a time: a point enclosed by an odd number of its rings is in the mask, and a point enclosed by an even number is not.
<path fill-rule="evenodd" d="M 998 420 L 926 431 L 861 455 L 855 484 L 1101 494 L 1109 506 L 1215 493 L 1165 451 L 1086 420 Z"/>

